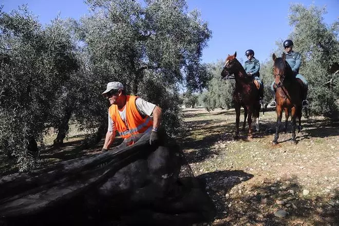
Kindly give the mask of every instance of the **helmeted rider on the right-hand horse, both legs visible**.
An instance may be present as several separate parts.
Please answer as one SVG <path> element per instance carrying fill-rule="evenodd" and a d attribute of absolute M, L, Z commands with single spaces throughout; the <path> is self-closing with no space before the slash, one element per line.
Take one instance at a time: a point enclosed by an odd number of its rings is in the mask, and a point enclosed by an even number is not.
<path fill-rule="evenodd" d="M 293 72 L 296 74 L 295 78 L 302 80 L 303 83 L 304 83 L 303 93 L 302 93 L 302 100 L 303 100 L 302 106 L 306 107 L 306 106 L 308 106 L 308 101 L 306 100 L 308 84 L 307 84 L 305 77 L 303 77 L 301 74 L 299 74 L 299 67 L 300 67 L 300 64 L 302 63 L 302 56 L 300 55 L 300 53 L 292 50 L 292 48 L 293 48 L 292 40 L 289 40 L 289 39 L 285 40 L 283 45 L 284 45 L 284 49 L 286 51 L 286 61 L 290 65 L 290 67 L 292 68 Z M 272 94 L 273 94 L 274 99 L 270 103 L 270 106 L 275 107 L 277 104 L 275 102 L 275 91 L 276 91 L 276 89 L 275 89 L 275 86 L 274 86 L 274 81 L 271 84 L 271 90 L 272 90 Z"/>

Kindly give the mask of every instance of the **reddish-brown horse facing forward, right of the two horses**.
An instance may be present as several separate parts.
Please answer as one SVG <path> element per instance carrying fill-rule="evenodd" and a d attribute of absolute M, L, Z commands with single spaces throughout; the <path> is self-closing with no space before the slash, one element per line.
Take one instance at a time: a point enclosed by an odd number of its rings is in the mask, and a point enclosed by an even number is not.
<path fill-rule="evenodd" d="M 278 143 L 279 128 L 281 125 L 281 117 L 283 117 L 283 110 L 285 111 L 286 122 L 285 122 L 285 133 L 287 127 L 287 120 L 289 116 L 289 110 L 291 110 L 292 120 L 292 142 L 297 143 L 295 139 L 295 125 L 296 118 L 299 121 L 298 133 L 301 129 L 301 118 L 302 118 L 302 85 L 295 79 L 295 74 L 292 71 L 290 65 L 286 62 L 286 55 L 283 53 L 281 58 L 277 58 L 273 53 L 272 55 L 274 65 L 274 85 L 276 88 L 276 112 L 277 112 L 277 123 L 276 131 L 273 143 Z"/>

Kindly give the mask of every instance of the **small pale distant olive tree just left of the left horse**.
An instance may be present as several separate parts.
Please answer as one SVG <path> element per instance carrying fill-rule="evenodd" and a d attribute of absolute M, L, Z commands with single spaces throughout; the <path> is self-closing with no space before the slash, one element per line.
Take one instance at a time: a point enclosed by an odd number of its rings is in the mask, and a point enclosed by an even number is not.
<path fill-rule="evenodd" d="M 234 80 L 222 80 L 221 70 L 223 62 L 219 61 L 213 66 L 213 78 L 210 80 L 207 91 L 202 93 L 204 107 L 207 110 L 215 108 L 229 109 L 233 107 Z"/>

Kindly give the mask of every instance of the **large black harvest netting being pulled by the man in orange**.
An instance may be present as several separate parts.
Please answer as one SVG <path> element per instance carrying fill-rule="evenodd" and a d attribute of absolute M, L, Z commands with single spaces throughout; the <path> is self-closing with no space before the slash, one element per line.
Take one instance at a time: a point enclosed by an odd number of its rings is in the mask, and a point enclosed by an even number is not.
<path fill-rule="evenodd" d="M 0 225 L 89 225 L 132 214 L 124 210 L 146 211 L 146 221 L 213 217 L 214 205 L 175 141 L 151 146 L 149 134 L 139 138 L 128 147 L 2 177 Z"/>

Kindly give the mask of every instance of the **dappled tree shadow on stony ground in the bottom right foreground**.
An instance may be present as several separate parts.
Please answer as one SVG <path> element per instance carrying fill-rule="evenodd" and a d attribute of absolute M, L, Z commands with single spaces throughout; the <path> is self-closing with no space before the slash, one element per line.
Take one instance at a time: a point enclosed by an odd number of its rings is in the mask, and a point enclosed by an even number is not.
<path fill-rule="evenodd" d="M 244 172 L 242 174 L 246 175 Z M 204 177 L 208 177 L 207 175 Z M 339 223 L 338 191 L 329 196 L 304 196 L 302 186 L 295 177 L 288 180 L 263 181 L 260 185 L 252 187 L 243 186 L 240 180 L 229 185 L 232 177 L 225 174 L 224 177 L 214 176 L 207 180 L 208 191 L 218 210 L 214 225 L 320 226 Z M 246 181 L 253 175 L 235 176 L 241 177 Z M 233 186 L 234 189 L 229 192 Z M 286 211 L 286 217 L 276 217 L 274 212 L 278 210 Z"/>

